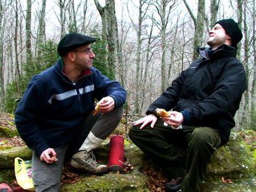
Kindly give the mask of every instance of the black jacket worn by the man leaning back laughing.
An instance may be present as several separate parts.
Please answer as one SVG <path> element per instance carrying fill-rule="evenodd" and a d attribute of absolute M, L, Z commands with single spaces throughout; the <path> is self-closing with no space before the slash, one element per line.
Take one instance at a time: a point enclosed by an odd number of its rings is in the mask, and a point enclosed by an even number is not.
<path fill-rule="evenodd" d="M 156 108 L 182 112 L 183 125 L 211 127 L 219 131 L 222 144 L 228 142 L 234 127 L 242 93 L 247 87 L 244 66 L 236 59 L 236 48 L 223 44 L 207 57 L 192 62 L 172 85 L 151 104 Z"/>

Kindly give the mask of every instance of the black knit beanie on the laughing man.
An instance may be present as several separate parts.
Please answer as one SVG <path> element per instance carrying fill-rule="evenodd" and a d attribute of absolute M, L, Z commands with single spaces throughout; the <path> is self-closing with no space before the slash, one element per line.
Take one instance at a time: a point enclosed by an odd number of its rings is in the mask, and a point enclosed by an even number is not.
<path fill-rule="evenodd" d="M 232 44 L 231 46 L 237 48 L 237 43 L 239 43 L 240 40 L 242 40 L 242 32 L 238 26 L 238 23 L 235 22 L 233 19 L 223 19 L 219 20 L 218 22 L 215 23 L 215 25 L 219 23 L 221 27 L 224 28 L 226 33 L 230 35 Z"/>

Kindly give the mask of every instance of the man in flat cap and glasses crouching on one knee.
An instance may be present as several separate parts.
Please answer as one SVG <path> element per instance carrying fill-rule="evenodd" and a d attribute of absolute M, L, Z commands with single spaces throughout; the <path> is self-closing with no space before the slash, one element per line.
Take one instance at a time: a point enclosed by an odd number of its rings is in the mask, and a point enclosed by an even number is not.
<path fill-rule="evenodd" d="M 92 67 L 95 39 L 79 33 L 58 44 L 60 59 L 35 75 L 15 112 L 17 130 L 33 150 L 32 178 L 36 191 L 59 191 L 66 154 L 72 167 L 104 173 L 92 150 L 121 120 L 126 91 Z M 95 109 L 98 100 L 98 114 Z"/>

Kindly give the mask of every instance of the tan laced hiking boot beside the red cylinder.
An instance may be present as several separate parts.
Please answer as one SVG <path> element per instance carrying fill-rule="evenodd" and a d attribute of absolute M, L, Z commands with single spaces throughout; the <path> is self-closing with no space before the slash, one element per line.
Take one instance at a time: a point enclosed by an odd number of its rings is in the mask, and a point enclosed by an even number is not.
<path fill-rule="evenodd" d="M 74 154 L 70 164 L 75 169 L 83 170 L 89 173 L 105 173 L 108 170 L 107 165 L 100 165 L 96 162 L 92 152 L 79 151 Z"/>

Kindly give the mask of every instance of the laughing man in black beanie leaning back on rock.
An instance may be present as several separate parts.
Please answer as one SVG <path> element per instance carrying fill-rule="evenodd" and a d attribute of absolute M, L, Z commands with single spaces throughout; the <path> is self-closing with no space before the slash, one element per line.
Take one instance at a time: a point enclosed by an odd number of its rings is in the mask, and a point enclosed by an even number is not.
<path fill-rule="evenodd" d="M 213 152 L 229 140 L 247 87 L 244 67 L 236 59 L 242 39 L 237 23 L 220 20 L 208 36 L 210 48 L 199 50 L 201 57 L 129 131 L 130 139 L 163 166 L 170 180 L 166 191 L 200 190 Z M 163 109 L 169 111 L 166 116 Z"/>

